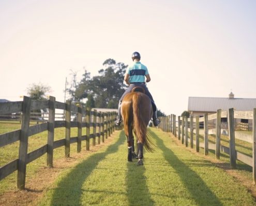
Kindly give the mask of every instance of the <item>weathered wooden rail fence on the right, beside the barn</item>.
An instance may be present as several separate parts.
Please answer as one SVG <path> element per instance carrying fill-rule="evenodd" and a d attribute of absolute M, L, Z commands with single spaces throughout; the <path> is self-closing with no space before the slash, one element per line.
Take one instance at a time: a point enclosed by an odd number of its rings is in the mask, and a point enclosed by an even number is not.
<path fill-rule="evenodd" d="M 229 135 L 229 147 L 220 144 L 221 135 L 221 118 L 228 118 L 228 135 Z M 253 120 L 253 131 L 252 140 L 244 140 L 252 143 L 252 157 L 244 155 L 236 151 L 235 148 L 235 118 L 252 119 Z M 208 142 L 208 121 L 216 119 L 216 144 L 209 144 Z M 204 142 L 199 142 L 199 125 L 204 124 L 203 138 Z M 190 125 L 190 136 L 188 135 L 188 125 Z M 230 165 L 232 168 L 236 168 L 236 160 L 242 161 L 245 164 L 252 167 L 253 182 L 256 183 L 256 108 L 253 111 L 234 111 L 233 108 L 228 111 L 218 110 L 214 114 L 204 114 L 203 117 L 199 116 L 178 116 L 176 124 L 176 115 L 171 114 L 166 117 L 161 117 L 161 124 L 159 126 L 165 132 L 172 132 L 178 140 L 181 141 L 186 147 L 190 142 L 190 148 L 193 148 L 194 140 L 193 134 L 195 133 L 195 149 L 199 152 L 199 148 L 204 148 L 204 155 L 208 155 L 209 149 L 215 150 L 216 159 L 220 159 L 220 152 L 227 153 L 230 157 Z M 195 129 L 195 131 L 194 131 Z M 239 138 L 240 139 L 240 138 Z"/>

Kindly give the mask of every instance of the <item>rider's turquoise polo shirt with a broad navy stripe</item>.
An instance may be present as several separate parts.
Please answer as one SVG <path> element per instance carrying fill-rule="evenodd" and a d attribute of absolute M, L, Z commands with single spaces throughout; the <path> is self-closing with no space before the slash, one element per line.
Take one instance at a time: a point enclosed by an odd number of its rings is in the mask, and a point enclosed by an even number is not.
<path fill-rule="evenodd" d="M 141 62 L 135 62 L 133 65 L 128 66 L 126 74 L 130 75 L 130 83 L 132 82 L 145 82 L 145 75 L 148 74 L 147 67 Z"/>

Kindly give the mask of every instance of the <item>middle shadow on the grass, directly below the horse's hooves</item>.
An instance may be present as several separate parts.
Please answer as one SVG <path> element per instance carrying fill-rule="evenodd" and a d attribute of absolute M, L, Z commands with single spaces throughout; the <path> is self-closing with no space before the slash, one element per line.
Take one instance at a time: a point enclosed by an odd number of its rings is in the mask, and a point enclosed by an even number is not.
<path fill-rule="evenodd" d="M 133 160 L 134 161 L 134 160 Z M 137 166 L 137 161 L 127 162 L 127 197 L 129 205 L 154 205 L 144 176 L 145 167 Z"/>

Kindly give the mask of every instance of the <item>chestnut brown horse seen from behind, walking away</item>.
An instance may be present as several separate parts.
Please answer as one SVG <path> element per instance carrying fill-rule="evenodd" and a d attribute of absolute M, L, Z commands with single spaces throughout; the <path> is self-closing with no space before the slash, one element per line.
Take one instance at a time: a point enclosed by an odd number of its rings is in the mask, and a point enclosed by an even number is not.
<path fill-rule="evenodd" d="M 138 158 L 138 165 L 143 165 L 143 146 L 148 151 L 153 151 L 152 142 L 148 139 L 147 125 L 152 118 L 153 109 L 150 98 L 141 87 L 135 87 L 128 93 L 121 106 L 121 113 L 124 120 L 125 135 L 128 145 L 128 161 Z M 138 152 L 134 151 L 134 134 L 137 138 Z M 137 157 L 138 156 L 138 157 Z"/>

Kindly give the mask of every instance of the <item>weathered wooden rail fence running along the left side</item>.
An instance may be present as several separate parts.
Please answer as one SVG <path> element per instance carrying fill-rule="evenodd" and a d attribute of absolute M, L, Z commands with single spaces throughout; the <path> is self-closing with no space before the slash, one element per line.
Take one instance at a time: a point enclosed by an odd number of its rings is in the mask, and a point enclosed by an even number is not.
<path fill-rule="evenodd" d="M 36 109 L 49 109 L 48 122 L 29 126 L 31 111 Z M 55 109 L 65 110 L 65 121 L 55 120 Z M 24 96 L 23 101 L 0 103 L 0 114 L 22 112 L 21 129 L 0 134 L 0 147 L 20 141 L 19 158 L 0 167 L 0 180 L 4 179 L 14 171 L 18 170 L 17 185 L 18 188 L 25 188 L 26 165 L 47 153 L 47 165 L 53 166 L 53 151 L 58 147 L 65 146 L 65 156 L 69 157 L 70 144 L 77 143 L 77 151 L 81 151 L 81 141 L 86 141 L 86 150 L 89 150 L 90 139 L 92 144 L 104 142 L 114 131 L 115 112 L 97 112 L 84 109 L 81 105 L 73 105 L 70 101 L 66 103 L 55 101 L 55 97 L 50 96 L 49 100 L 31 100 Z M 77 113 L 77 121 L 71 122 L 71 112 Z M 86 121 L 82 121 L 83 116 Z M 91 118 L 93 116 L 93 118 Z M 93 121 L 91 121 L 93 119 Z M 54 128 L 65 127 L 65 139 L 54 141 Z M 78 136 L 70 137 L 70 128 L 78 128 Z M 82 128 L 86 128 L 86 135 L 82 135 Z M 90 127 L 93 127 L 93 133 L 90 133 Z M 96 133 L 96 127 L 98 132 Z M 28 137 L 34 134 L 48 131 L 47 144 L 39 149 L 27 153 Z"/>

